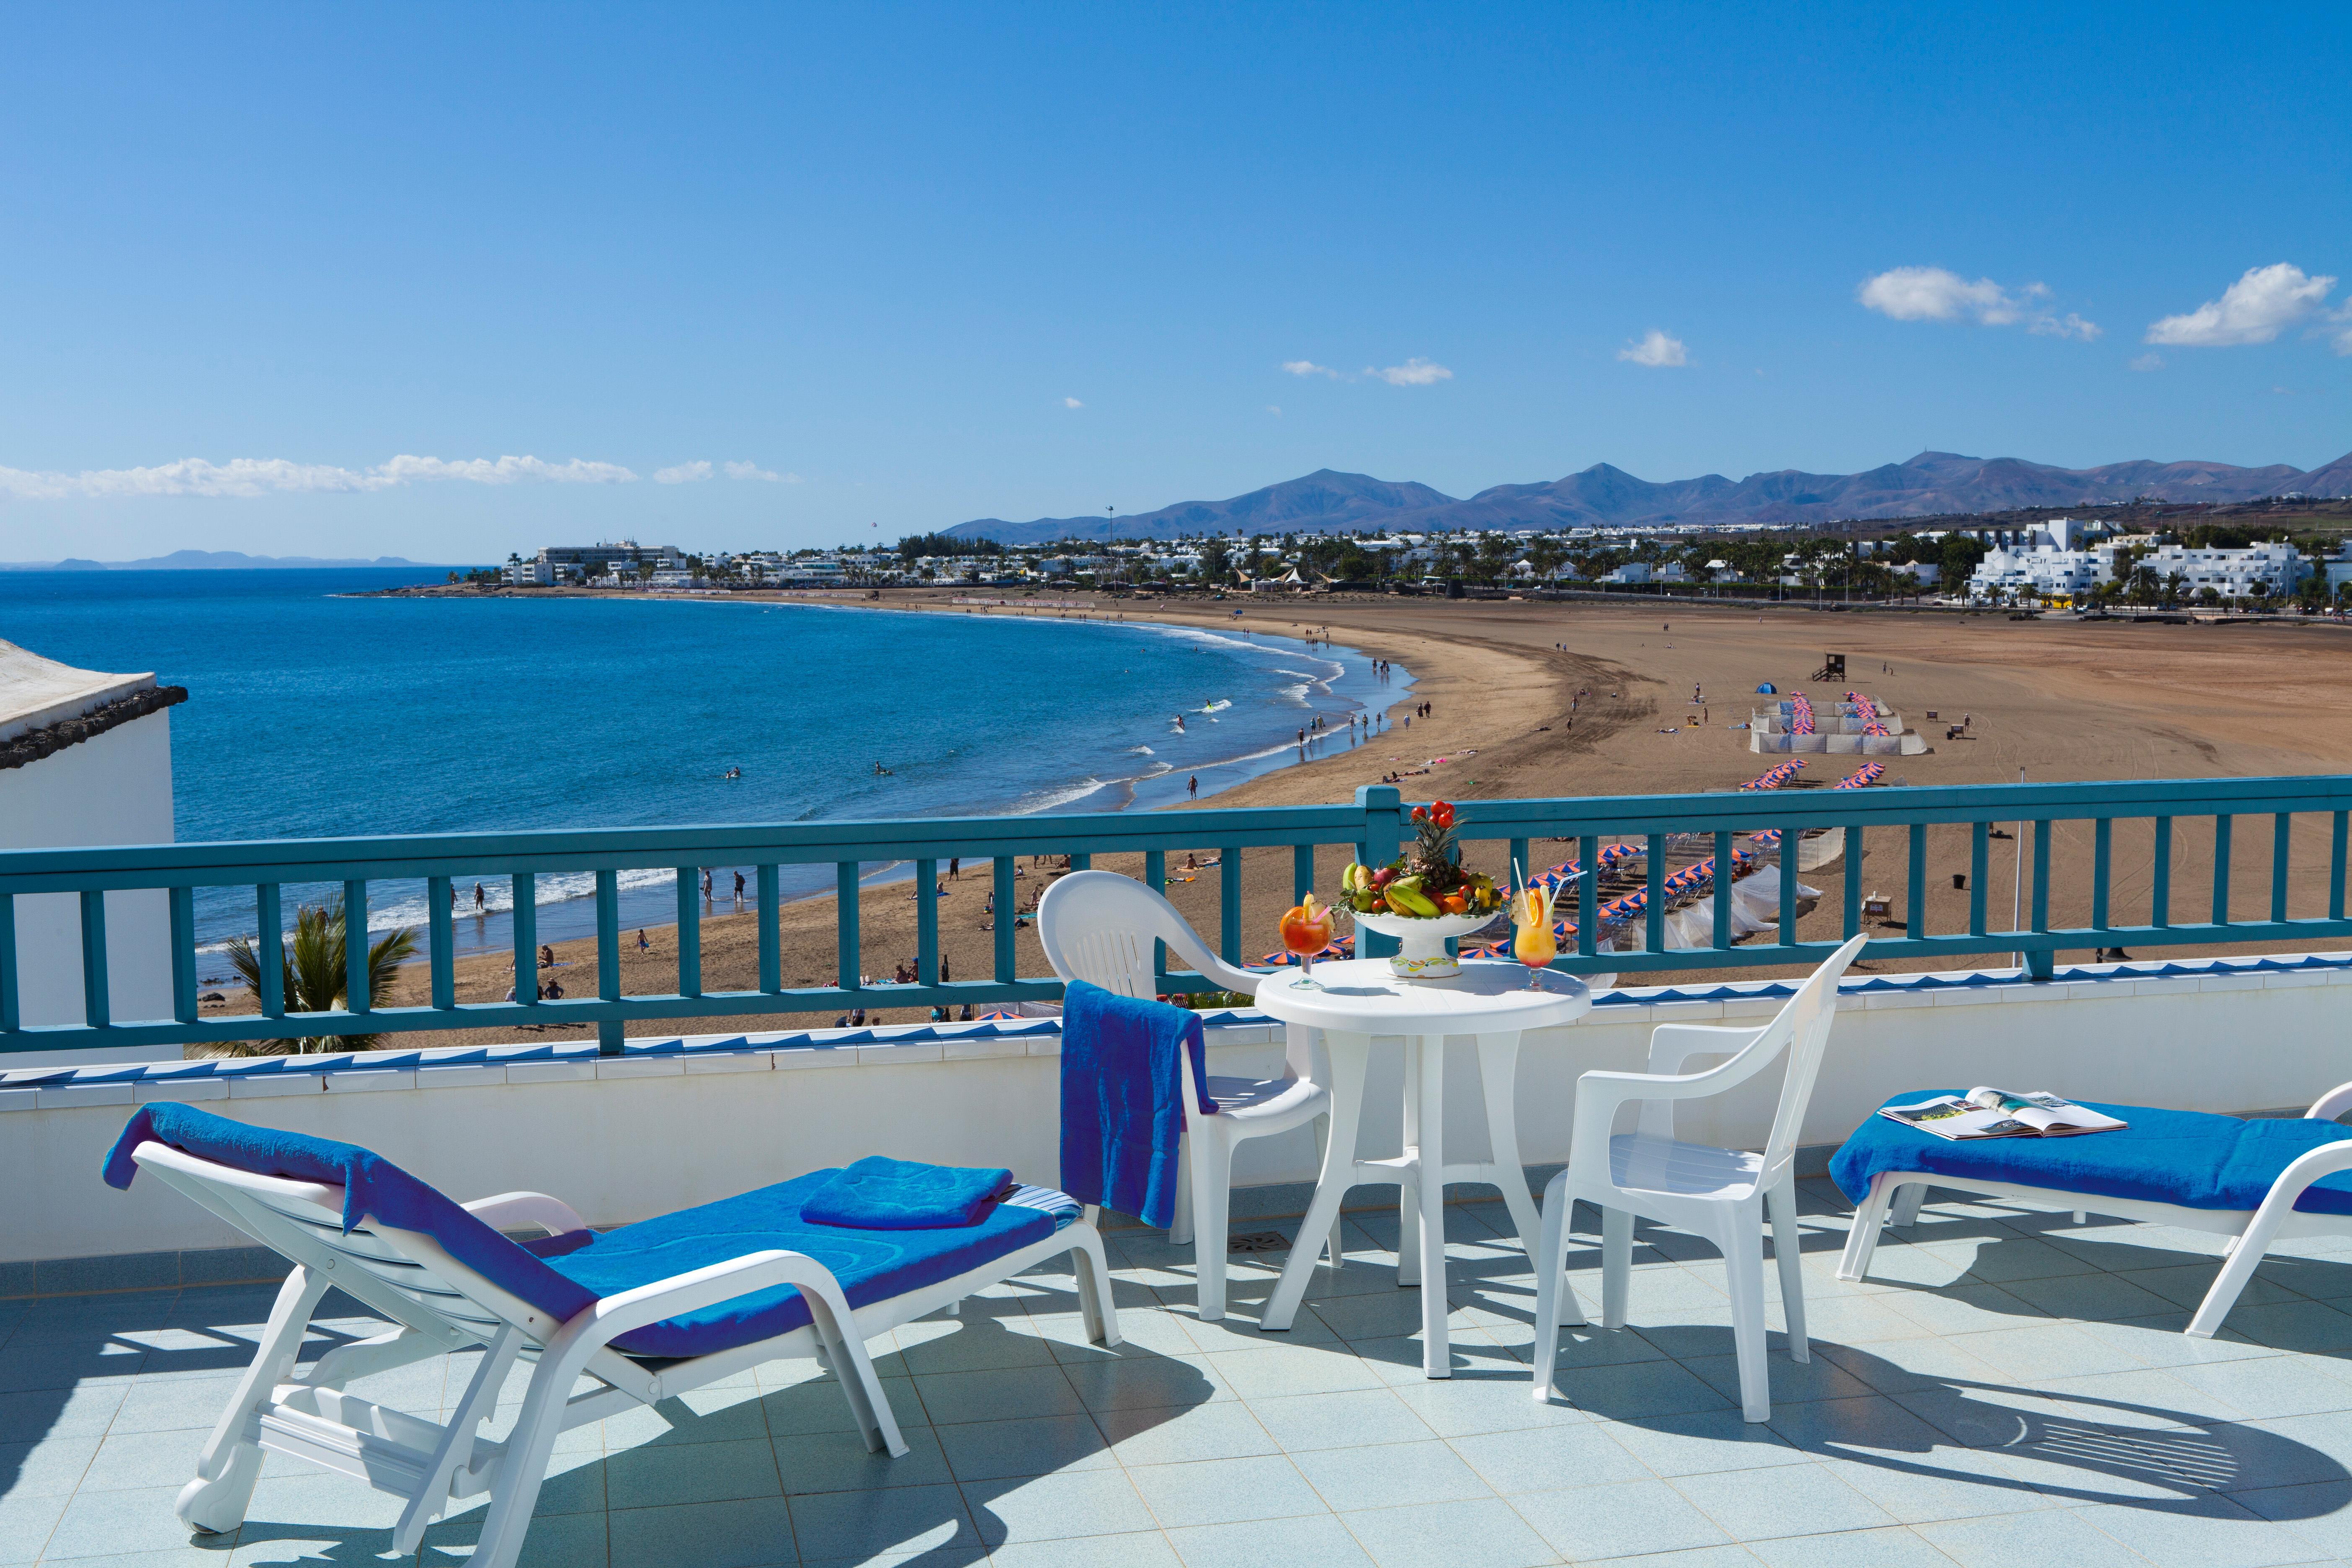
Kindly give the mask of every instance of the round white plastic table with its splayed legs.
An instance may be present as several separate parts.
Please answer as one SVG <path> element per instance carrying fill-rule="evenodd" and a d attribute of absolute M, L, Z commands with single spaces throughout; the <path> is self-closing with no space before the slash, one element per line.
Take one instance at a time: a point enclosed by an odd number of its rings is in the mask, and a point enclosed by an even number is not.
<path fill-rule="evenodd" d="M 1583 980 L 1543 973 L 1543 990 L 1526 990 L 1526 971 L 1494 959 L 1465 959 L 1451 980 L 1399 980 L 1388 959 L 1343 959 L 1315 966 L 1317 990 L 1305 990 L 1303 973 L 1282 971 L 1258 985 L 1258 1009 L 1282 1023 L 1322 1030 L 1331 1060 L 1331 1138 L 1324 1143 L 1322 1178 L 1315 1201 L 1301 1220 L 1301 1237 L 1331 1234 L 1341 1199 L 1367 1182 L 1399 1182 L 1397 1194 L 1397 1284 L 1421 1286 L 1421 1368 L 1430 1378 L 1451 1378 L 1454 1356 L 1446 1342 L 1446 1182 L 1486 1182 L 1503 1190 L 1519 1246 L 1536 1255 L 1541 1220 L 1526 1192 L 1526 1168 L 1519 1164 L 1515 1117 L 1515 1079 L 1519 1070 L 1522 1030 L 1548 1030 L 1576 1023 L 1592 992 Z M 1404 1154 L 1397 1159 L 1357 1159 L 1355 1131 L 1364 1110 L 1364 1072 L 1371 1041 L 1381 1034 L 1404 1037 Z M 1477 1039 L 1479 1079 L 1486 1088 L 1486 1164 L 1446 1164 L 1444 1157 L 1444 1079 L 1446 1037 Z M 1319 1248 L 1294 1246 L 1282 1279 L 1265 1302 L 1261 1328 L 1284 1331 L 1298 1314 Z"/>

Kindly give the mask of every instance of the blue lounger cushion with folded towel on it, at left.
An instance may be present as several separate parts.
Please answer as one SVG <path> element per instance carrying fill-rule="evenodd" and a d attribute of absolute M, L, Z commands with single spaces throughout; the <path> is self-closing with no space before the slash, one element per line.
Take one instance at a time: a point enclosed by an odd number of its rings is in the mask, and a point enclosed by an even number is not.
<path fill-rule="evenodd" d="M 426 1232 L 452 1258 L 555 1319 L 572 1319 L 602 1295 L 767 1251 L 816 1258 L 833 1269 L 849 1305 L 866 1307 L 1021 1251 L 1077 1218 L 1073 1199 L 1044 1187 L 1021 1187 L 978 1225 L 960 1229 L 811 1225 L 800 1218 L 800 1206 L 837 1175 L 811 1171 L 659 1220 L 520 1246 L 381 1154 L 332 1138 L 247 1126 L 193 1105 L 141 1105 L 106 1159 L 111 1185 L 129 1187 L 136 1173 L 132 1150 L 148 1140 L 256 1175 L 341 1185 L 346 1229 L 374 1218 Z M 790 1333 L 807 1321 L 809 1305 L 800 1291 L 779 1286 L 649 1324 L 616 1338 L 614 1349 L 633 1356 L 706 1356 Z"/>

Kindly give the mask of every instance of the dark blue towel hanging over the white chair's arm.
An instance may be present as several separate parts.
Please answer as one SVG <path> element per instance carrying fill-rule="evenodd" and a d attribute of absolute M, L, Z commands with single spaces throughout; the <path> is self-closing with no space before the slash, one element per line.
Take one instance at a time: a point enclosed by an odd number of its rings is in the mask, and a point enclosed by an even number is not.
<path fill-rule="evenodd" d="M 1167 1229 L 1176 1222 L 1183 1072 L 1216 1112 L 1200 1013 L 1070 980 L 1061 999 L 1061 1190 Z"/>

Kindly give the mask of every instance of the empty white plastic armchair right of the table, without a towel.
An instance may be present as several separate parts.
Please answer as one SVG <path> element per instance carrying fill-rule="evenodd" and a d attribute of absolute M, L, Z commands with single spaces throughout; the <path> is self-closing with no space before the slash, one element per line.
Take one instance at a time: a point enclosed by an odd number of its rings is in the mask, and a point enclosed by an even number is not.
<path fill-rule="evenodd" d="M 1649 1072 L 1588 1072 L 1576 1079 L 1576 1135 L 1569 1166 L 1543 1190 L 1543 1246 L 1536 1262 L 1536 1401 L 1552 1399 L 1559 1324 L 1583 1324 L 1566 1284 L 1569 1213 L 1578 1199 L 1602 1211 L 1602 1326 L 1625 1326 L 1632 1274 L 1632 1220 L 1642 1215 L 1712 1241 L 1731 1276 L 1731 1340 L 1740 1354 L 1740 1413 L 1771 1420 L 1764 1373 L 1764 1218 L 1771 1213 L 1780 1262 L 1780 1316 L 1790 1361 L 1811 1361 L 1804 1338 L 1804 1274 L 1797 1258 L 1797 1131 L 1813 1098 L 1837 978 L 1867 936 L 1830 954 L 1762 1030 L 1663 1023 L 1649 1037 Z M 1717 1150 L 1675 1138 L 1675 1100 L 1703 1100 L 1745 1084 L 1788 1051 L 1788 1077 L 1764 1152 Z M 1691 1056 L 1733 1053 L 1705 1072 L 1682 1072 Z M 1625 1103 L 1639 1103 L 1632 1133 L 1616 1133 Z"/>

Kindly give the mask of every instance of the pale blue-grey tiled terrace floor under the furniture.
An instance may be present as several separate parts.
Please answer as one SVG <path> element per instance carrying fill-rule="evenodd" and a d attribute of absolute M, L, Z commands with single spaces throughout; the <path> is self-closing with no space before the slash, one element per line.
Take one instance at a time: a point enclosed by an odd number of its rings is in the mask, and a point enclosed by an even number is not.
<path fill-rule="evenodd" d="M 1722 1265 L 1644 1232 L 1632 1326 L 1564 1335 L 1529 1399 L 1534 1286 L 1498 1204 L 1451 1215 L 1449 1382 L 1421 1378 L 1395 1225 L 1350 1220 L 1289 1335 L 1192 1316 L 1190 1251 L 1120 1232 L 1127 1345 L 1065 1276 L 875 1342 L 910 1453 L 877 1460 L 833 1382 L 762 1368 L 564 1436 L 527 1561 L 1381 1563 L 1842 1568 L 2331 1563 L 2352 1556 L 2352 1244 L 2274 1258 L 2220 1340 L 2180 1338 L 2213 1241 L 1938 1204 L 1877 1279 L 1835 1279 L 1844 1204 L 1806 1192 L 1809 1366 L 1773 1335 L 1773 1420 L 1733 1408 Z M 1590 1241 L 1590 1234 L 1585 1234 Z M 1277 1258 L 1279 1262 L 1279 1258 Z M 1588 1309 L 1595 1253 L 1571 1260 Z M 235 1537 L 172 1514 L 266 1291 L 0 1302 L 0 1563 L 383 1563 L 395 1505 L 270 1458 Z M 360 1333 L 362 1321 L 336 1324 Z M 887 1352 L 887 1354 L 884 1354 Z M 374 1380 L 435 1413 L 466 1366 Z M 520 1394 L 520 1382 L 510 1385 Z M 482 1509 L 433 1528 L 456 1563 Z"/>

